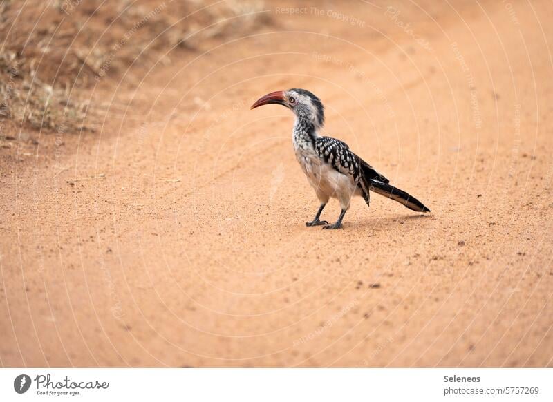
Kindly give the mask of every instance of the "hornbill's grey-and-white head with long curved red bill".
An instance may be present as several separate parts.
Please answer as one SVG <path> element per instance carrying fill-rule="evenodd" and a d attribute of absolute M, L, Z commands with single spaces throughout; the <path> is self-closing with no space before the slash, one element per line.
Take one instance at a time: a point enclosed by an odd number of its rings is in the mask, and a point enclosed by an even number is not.
<path fill-rule="evenodd" d="M 268 93 L 259 98 L 252 105 L 252 109 L 267 104 L 286 106 L 298 119 L 307 120 L 317 128 L 321 128 L 324 124 L 324 106 L 321 100 L 308 90 L 293 88 Z"/>

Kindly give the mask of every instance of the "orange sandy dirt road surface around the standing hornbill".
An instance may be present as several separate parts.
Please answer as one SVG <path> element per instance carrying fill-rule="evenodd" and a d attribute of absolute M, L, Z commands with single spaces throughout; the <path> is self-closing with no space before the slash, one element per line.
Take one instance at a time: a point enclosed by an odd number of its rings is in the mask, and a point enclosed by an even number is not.
<path fill-rule="evenodd" d="M 0 364 L 552 366 L 553 7 L 434 3 L 269 3 L 0 149 Z M 433 213 L 305 227 L 292 115 L 249 110 L 294 87 Z"/>

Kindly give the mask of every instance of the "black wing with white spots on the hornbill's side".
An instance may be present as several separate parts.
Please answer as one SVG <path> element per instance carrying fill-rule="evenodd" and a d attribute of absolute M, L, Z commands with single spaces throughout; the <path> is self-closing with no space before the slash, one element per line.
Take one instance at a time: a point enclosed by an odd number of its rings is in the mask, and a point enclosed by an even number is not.
<path fill-rule="evenodd" d="M 373 166 L 355 155 L 345 142 L 330 137 L 319 137 L 315 141 L 315 149 L 325 162 L 344 175 L 352 175 L 355 182 L 359 182 L 361 178 L 366 181 L 373 179 L 383 183 L 390 182 L 384 175 L 375 171 Z"/>

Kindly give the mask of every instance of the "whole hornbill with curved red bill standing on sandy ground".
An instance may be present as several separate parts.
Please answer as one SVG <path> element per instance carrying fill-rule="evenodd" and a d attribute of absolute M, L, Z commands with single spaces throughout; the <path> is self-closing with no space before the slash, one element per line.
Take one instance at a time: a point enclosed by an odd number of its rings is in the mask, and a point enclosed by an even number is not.
<path fill-rule="evenodd" d="M 258 99 L 252 109 L 266 104 L 286 106 L 296 115 L 292 132 L 296 159 L 321 202 L 317 215 L 306 223 L 307 226 L 324 225 L 323 229 L 341 229 L 341 221 L 353 195 L 361 195 L 368 205 L 369 191 L 400 202 L 413 211 L 430 212 L 412 195 L 389 184 L 390 180 L 355 155 L 346 143 L 319 135 L 324 124 L 324 106 L 308 90 L 293 88 L 268 93 Z M 330 197 L 337 198 L 341 207 L 335 224 L 319 220 Z"/>

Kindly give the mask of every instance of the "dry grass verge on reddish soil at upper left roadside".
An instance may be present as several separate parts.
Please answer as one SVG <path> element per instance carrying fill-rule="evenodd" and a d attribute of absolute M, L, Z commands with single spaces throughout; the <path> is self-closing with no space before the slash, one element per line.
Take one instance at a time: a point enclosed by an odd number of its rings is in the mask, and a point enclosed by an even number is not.
<path fill-rule="evenodd" d="M 0 1 L 0 120 L 48 131 L 94 131 L 101 111 L 83 89 L 137 57 L 169 63 L 171 48 L 194 51 L 265 16 L 261 1 L 229 0 L 186 19 L 201 1 Z"/>

